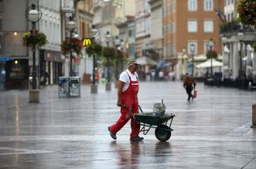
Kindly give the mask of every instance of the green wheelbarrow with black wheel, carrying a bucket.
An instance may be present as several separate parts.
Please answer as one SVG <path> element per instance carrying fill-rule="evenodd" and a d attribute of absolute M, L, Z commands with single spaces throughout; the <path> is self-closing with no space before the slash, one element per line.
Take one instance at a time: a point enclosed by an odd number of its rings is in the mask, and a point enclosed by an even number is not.
<path fill-rule="evenodd" d="M 138 106 L 141 113 L 133 114 L 130 107 L 126 105 L 122 106 L 124 106 L 129 111 L 129 113 L 131 114 L 131 118 L 133 118 L 135 122 L 142 127 L 139 132 L 143 132 L 143 134 L 146 135 L 151 128 L 155 128 L 155 137 L 158 140 L 169 140 L 173 131 L 171 125 L 175 114 L 170 113 L 163 116 L 155 116 L 154 113 L 143 113 L 141 106 Z M 170 122 L 168 124 L 169 120 Z"/>

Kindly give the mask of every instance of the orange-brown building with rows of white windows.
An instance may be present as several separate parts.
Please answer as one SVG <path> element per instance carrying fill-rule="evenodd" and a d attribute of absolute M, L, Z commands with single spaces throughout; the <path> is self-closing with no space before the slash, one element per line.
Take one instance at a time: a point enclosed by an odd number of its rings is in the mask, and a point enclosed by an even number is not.
<path fill-rule="evenodd" d="M 224 1 L 213 0 L 165 0 L 164 1 L 164 58 L 176 58 L 178 52 L 196 46 L 194 54 L 204 54 L 213 39 L 213 49 L 222 52 L 220 43 L 220 19 L 215 10 L 224 11 Z"/>

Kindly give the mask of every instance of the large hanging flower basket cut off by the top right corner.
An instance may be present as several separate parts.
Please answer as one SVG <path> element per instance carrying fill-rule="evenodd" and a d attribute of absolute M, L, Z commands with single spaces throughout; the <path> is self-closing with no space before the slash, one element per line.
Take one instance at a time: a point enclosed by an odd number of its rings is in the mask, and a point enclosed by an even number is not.
<path fill-rule="evenodd" d="M 237 13 L 239 20 L 245 25 L 256 25 L 256 2 L 255 0 L 238 0 Z"/>

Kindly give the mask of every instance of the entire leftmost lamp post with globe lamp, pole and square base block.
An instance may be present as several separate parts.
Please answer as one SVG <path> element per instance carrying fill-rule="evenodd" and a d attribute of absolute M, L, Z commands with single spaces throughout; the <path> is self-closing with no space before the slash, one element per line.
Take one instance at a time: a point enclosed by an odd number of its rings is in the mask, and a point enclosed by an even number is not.
<path fill-rule="evenodd" d="M 26 19 L 32 22 L 32 30 L 36 29 L 36 22 L 42 18 L 42 12 L 32 4 L 26 9 Z M 29 90 L 29 103 L 39 103 L 39 91 L 36 90 L 36 45 L 32 46 L 32 90 Z"/>

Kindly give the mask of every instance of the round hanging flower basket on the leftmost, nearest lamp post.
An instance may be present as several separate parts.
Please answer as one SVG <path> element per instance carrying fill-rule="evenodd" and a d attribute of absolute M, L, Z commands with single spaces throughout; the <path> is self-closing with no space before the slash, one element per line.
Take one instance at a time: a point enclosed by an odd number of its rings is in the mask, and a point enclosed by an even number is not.
<path fill-rule="evenodd" d="M 22 40 L 24 46 L 30 47 L 32 51 L 35 51 L 36 48 L 45 46 L 47 43 L 46 35 L 36 29 L 25 32 L 22 35 Z"/>

